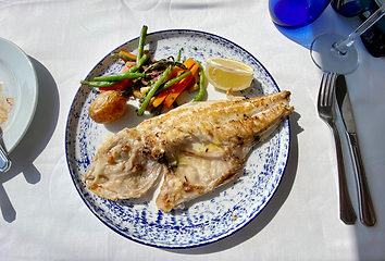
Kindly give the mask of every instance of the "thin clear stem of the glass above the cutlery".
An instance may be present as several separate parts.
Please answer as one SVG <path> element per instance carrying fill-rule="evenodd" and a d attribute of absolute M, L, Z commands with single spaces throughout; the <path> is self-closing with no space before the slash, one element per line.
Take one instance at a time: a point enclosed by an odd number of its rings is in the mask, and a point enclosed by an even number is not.
<path fill-rule="evenodd" d="M 367 32 L 372 25 L 374 25 L 385 14 L 385 3 L 375 11 L 365 22 L 363 22 L 353 33 L 351 33 L 346 39 L 333 44 L 333 48 L 339 53 L 345 55 L 347 48 L 349 48 L 357 37 Z"/>

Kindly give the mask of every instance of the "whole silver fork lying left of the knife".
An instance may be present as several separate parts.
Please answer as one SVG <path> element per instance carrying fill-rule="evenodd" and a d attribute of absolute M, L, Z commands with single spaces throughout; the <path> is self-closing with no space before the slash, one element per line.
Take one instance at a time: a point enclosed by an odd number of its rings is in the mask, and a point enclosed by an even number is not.
<path fill-rule="evenodd" d="M 339 186 L 339 217 L 346 224 L 355 224 L 357 215 L 352 208 L 349 190 L 346 182 L 345 165 L 343 158 L 343 149 L 338 129 L 336 127 L 336 110 L 335 110 L 335 83 L 336 73 L 324 73 L 321 80 L 321 87 L 318 100 L 318 110 L 320 117 L 328 125 L 334 134 L 334 140 L 337 150 L 338 165 L 338 186 Z"/>

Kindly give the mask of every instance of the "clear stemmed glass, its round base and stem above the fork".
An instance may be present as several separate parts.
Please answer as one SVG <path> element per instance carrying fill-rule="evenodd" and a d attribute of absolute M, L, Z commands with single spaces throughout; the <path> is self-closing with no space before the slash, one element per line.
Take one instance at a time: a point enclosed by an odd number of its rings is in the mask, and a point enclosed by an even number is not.
<path fill-rule="evenodd" d="M 374 25 L 384 14 L 385 3 L 348 37 L 333 33 L 316 37 L 310 47 L 313 62 L 324 72 L 337 74 L 352 72 L 359 63 L 358 51 L 353 45 L 355 40 Z"/>

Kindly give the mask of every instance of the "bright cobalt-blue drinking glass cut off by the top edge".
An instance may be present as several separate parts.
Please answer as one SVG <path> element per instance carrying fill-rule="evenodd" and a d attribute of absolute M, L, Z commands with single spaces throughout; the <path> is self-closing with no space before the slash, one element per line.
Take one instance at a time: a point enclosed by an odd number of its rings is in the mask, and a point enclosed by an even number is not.
<path fill-rule="evenodd" d="M 302 27 L 314 22 L 331 0 L 269 0 L 273 22 L 284 27 Z"/>

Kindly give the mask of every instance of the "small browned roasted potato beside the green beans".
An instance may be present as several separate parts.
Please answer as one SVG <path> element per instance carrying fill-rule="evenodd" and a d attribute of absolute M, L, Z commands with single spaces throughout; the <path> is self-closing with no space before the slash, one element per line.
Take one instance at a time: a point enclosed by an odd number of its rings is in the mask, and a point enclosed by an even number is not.
<path fill-rule="evenodd" d="M 89 107 L 89 116 L 97 123 L 111 123 L 123 116 L 126 99 L 116 90 L 101 92 Z"/>

